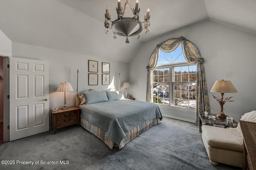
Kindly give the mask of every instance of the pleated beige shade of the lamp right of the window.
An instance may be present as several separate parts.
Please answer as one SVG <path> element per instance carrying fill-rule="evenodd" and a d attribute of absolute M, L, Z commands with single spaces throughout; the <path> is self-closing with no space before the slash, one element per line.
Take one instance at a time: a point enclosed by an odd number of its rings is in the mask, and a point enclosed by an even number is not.
<path fill-rule="evenodd" d="M 229 80 L 217 80 L 212 86 L 211 92 L 215 93 L 237 93 L 236 88 Z"/>

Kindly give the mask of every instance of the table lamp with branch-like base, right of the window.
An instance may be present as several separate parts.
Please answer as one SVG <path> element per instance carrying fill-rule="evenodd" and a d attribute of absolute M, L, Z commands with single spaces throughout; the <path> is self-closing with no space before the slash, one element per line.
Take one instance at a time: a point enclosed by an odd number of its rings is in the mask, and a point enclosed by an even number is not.
<path fill-rule="evenodd" d="M 211 92 L 221 94 L 221 98 L 218 95 L 217 95 L 217 97 L 212 95 L 212 97 L 214 99 L 216 99 L 216 101 L 218 101 L 218 103 L 220 103 L 220 113 L 217 115 L 217 117 L 219 119 L 226 119 L 226 115 L 223 113 L 223 110 L 224 110 L 223 105 L 226 102 L 230 102 L 230 101 L 233 101 L 233 100 L 230 100 L 232 97 L 226 97 L 226 98 L 223 99 L 223 95 L 224 95 L 224 93 L 237 93 L 236 88 L 231 83 L 231 81 L 217 80 L 217 81 L 215 81 L 214 85 L 212 86 Z"/>

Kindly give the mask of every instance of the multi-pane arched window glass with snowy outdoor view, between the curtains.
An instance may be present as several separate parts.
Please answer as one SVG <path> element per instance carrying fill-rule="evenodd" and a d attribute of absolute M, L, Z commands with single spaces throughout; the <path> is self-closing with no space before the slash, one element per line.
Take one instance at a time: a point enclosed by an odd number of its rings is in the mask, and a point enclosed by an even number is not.
<path fill-rule="evenodd" d="M 170 53 L 159 51 L 152 76 L 154 103 L 196 108 L 196 65 L 186 61 L 181 45 Z"/>

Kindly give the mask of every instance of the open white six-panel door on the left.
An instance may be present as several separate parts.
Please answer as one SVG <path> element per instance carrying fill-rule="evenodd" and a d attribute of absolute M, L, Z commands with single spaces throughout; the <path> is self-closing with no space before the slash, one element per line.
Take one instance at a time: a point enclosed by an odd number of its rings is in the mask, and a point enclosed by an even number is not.
<path fill-rule="evenodd" d="M 49 130 L 49 64 L 10 57 L 10 141 Z"/>

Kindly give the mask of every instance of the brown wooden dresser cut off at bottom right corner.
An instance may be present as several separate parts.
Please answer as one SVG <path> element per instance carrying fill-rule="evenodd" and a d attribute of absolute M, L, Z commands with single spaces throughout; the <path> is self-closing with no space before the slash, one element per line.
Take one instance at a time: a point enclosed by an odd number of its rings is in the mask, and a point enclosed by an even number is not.
<path fill-rule="evenodd" d="M 244 136 L 244 169 L 256 170 L 256 123 L 239 122 Z"/>

